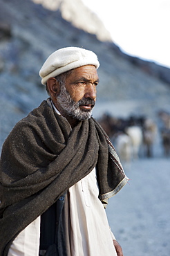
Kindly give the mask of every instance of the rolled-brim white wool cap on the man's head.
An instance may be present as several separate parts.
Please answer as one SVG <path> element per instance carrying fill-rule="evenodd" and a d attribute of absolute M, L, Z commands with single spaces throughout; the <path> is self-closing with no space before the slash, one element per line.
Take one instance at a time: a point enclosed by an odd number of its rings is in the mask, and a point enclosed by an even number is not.
<path fill-rule="evenodd" d="M 50 77 L 56 77 L 73 68 L 86 65 L 93 65 L 96 68 L 100 66 L 97 55 L 93 51 L 79 47 L 61 48 L 52 53 L 41 67 L 39 71 L 41 83 L 46 85 Z"/>

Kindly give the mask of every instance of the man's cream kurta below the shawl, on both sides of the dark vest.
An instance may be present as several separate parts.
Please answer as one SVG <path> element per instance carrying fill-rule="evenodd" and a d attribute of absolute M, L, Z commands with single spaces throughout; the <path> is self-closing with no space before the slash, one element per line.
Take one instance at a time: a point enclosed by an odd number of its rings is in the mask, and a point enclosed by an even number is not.
<path fill-rule="evenodd" d="M 113 233 L 98 199 L 95 169 L 69 190 L 71 256 L 115 256 Z M 13 241 L 8 256 L 39 255 L 40 217 Z"/>

